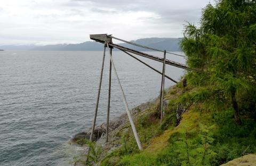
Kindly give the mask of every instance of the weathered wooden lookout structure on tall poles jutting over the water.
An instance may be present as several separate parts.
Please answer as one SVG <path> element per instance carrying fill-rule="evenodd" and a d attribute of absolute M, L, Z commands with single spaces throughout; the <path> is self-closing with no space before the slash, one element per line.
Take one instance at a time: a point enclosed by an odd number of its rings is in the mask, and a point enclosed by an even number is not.
<path fill-rule="evenodd" d="M 139 139 L 139 136 L 137 134 L 136 128 L 134 126 L 134 123 L 133 123 L 133 120 L 132 120 L 132 116 L 131 116 L 131 113 L 130 113 L 130 110 L 129 110 L 129 107 L 128 107 L 128 103 L 126 101 L 125 94 L 124 94 L 121 82 L 119 81 L 118 74 L 117 74 L 117 71 L 116 71 L 116 67 L 115 67 L 115 64 L 114 64 L 114 61 L 113 61 L 113 58 L 112 58 L 112 49 L 113 48 L 117 48 L 117 49 L 123 51 L 127 55 L 133 57 L 134 59 L 137 59 L 142 64 L 148 66 L 149 68 L 153 69 L 155 72 L 157 72 L 157 73 L 162 75 L 161 94 L 160 94 L 160 108 L 159 108 L 159 112 L 161 114 L 161 123 L 162 123 L 162 119 L 163 119 L 163 99 L 164 99 L 163 91 L 164 91 L 164 80 L 165 80 L 165 77 L 168 78 L 169 80 L 171 80 L 172 82 L 177 83 L 177 81 L 173 80 L 173 78 L 171 78 L 170 76 L 167 76 L 165 74 L 165 65 L 171 65 L 171 66 L 175 66 L 175 67 L 179 67 L 179 68 L 183 68 L 183 69 L 187 69 L 187 70 L 191 70 L 191 68 L 189 68 L 186 65 L 183 65 L 183 64 L 174 62 L 172 60 L 166 59 L 165 58 L 166 54 L 173 54 L 173 55 L 177 55 L 177 56 L 182 56 L 182 55 L 178 55 L 178 54 L 174 54 L 174 53 L 169 53 L 166 50 L 159 50 L 159 49 L 155 49 L 155 48 L 150 48 L 150 47 L 138 45 L 137 43 L 133 43 L 133 42 L 126 41 L 126 40 L 123 40 L 123 39 L 119 39 L 119 38 L 113 37 L 112 35 L 108 35 L 108 34 L 90 34 L 90 38 L 92 40 L 94 40 L 94 41 L 103 43 L 103 59 L 102 59 L 102 66 L 101 66 L 100 82 L 99 82 L 98 97 L 97 97 L 97 101 L 96 101 L 96 107 L 95 107 L 95 112 L 94 112 L 94 120 L 93 120 L 93 124 L 92 124 L 90 141 L 92 141 L 93 132 L 94 132 L 94 128 L 95 128 L 95 123 L 96 123 L 96 119 L 97 119 L 99 99 L 100 99 L 100 90 L 101 90 L 101 83 L 102 83 L 102 73 L 103 73 L 104 62 L 105 62 L 105 54 L 106 54 L 106 48 L 107 48 L 108 49 L 108 53 L 109 53 L 109 58 L 110 58 L 110 64 L 109 64 L 109 87 L 108 87 L 109 89 L 108 89 L 108 106 L 107 106 L 106 142 L 108 142 L 108 132 L 109 132 L 109 109 L 110 109 L 110 95 L 111 95 L 111 70 L 113 68 L 114 69 L 114 74 L 115 74 L 115 76 L 117 78 L 119 89 L 120 89 L 120 91 L 122 93 L 122 98 L 123 98 L 123 101 L 124 101 L 124 104 L 125 104 L 126 113 L 127 113 L 128 118 L 129 118 L 132 130 L 133 130 L 134 137 L 136 139 L 136 142 L 138 144 L 139 149 L 142 150 L 140 139 Z M 138 46 L 138 47 L 142 47 L 142 48 L 146 48 L 146 49 L 150 49 L 150 50 L 154 50 L 154 51 L 161 51 L 164 54 L 164 58 L 160 58 L 160 57 L 153 56 L 153 55 L 150 55 L 150 54 L 142 53 L 141 51 L 137 51 L 137 50 L 134 50 L 134 49 L 130 49 L 130 48 L 126 48 L 126 47 L 117 45 L 117 44 L 113 43 L 113 39 L 129 43 L 130 45 L 134 45 L 134 46 Z M 139 55 L 139 56 L 142 56 L 142 57 L 146 57 L 146 58 L 149 58 L 149 59 L 152 59 L 152 60 L 156 60 L 157 62 L 163 63 L 163 71 L 162 72 L 158 71 L 154 67 L 148 65 L 147 63 L 143 62 L 141 59 L 135 57 L 132 54 Z M 185 56 L 182 56 L 182 57 L 185 57 Z"/>

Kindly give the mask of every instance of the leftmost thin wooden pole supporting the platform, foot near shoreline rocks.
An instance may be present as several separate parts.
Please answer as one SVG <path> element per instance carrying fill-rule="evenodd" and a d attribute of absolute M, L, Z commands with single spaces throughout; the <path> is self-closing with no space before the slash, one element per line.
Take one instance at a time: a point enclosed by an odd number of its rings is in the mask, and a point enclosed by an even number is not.
<path fill-rule="evenodd" d="M 100 82 L 99 82 L 99 88 L 98 88 L 98 97 L 97 97 L 96 107 L 95 107 L 95 112 L 94 112 L 94 120 L 93 120 L 93 124 L 92 124 L 90 142 L 92 141 L 93 132 L 94 132 L 94 128 L 95 128 L 95 123 L 96 123 L 96 119 L 97 119 L 99 100 L 100 100 L 100 90 L 101 90 L 101 83 L 102 83 L 102 74 L 103 74 L 104 61 L 105 61 L 105 52 L 106 52 L 106 46 L 104 45 L 103 59 L 102 59 L 101 73 L 100 73 Z"/>

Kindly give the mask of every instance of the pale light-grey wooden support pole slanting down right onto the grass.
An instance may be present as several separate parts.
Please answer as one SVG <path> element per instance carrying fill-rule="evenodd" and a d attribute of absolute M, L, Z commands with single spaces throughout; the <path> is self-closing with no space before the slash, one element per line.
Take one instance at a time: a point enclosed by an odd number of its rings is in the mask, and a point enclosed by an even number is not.
<path fill-rule="evenodd" d="M 134 137 L 135 137 L 135 139 L 136 139 L 136 142 L 137 142 L 137 145 L 138 145 L 138 147 L 139 147 L 139 150 L 142 150 L 142 146 L 141 146 L 141 143 L 140 143 L 140 139 L 139 139 L 139 136 L 138 136 L 138 134 L 137 134 L 135 125 L 134 125 L 134 123 L 133 123 L 132 116 L 131 116 L 131 113 L 130 113 L 130 110 L 129 110 L 129 107 L 128 107 L 128 103 L 127 103 L 127 101 L 126 101 L 126 98 L 125 98 L 124 91 L 123 91 L 122 85 L 121 85 L 121 83 L 120 83 L 120 80 L 119 80 L 119 78 L 118 78 L 118 75 L 117 75 L 117 72 L 116 72 L 116 67 L 115 67 L 114 62 L 113 62 L 113 58 L 111 57 L 111 53 L 110 53 L 110 49 L 109 49 L 108 43 L 107 43 L 107 47 L 108 47 L 108 51 L 109 51 L 110 61 L 111 61 L 112 65 L 113 65 L 114 73 L 115 73 L 116 78 L 117 78 L 117 83 L 119 84 L 119 88 L 120 88 L 120 91 L 121 91 L 121 93 L 122 93 L 122 98 L 123 98 L 123 100 L 124 100 L 126 113 L 127 113 L 128 118 L 129 118 L 129 121 L 130 121 L 130 124 L 131 124 L 131 127 L 132 127 L 132 131 L 133 131 L 133 134 L 134 134 Z"/>

